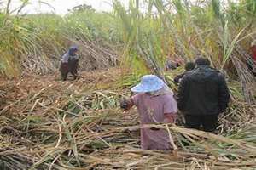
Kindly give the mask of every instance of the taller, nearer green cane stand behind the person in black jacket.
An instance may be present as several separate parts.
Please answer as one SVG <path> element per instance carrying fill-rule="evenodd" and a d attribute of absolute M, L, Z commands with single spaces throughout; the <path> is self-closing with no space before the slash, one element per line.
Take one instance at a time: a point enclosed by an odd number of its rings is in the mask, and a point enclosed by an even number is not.
<path fill-rule="evenodd" d="M 189 60 L 204 55 L 224 68 L 236 46 L 248 49 L 256 31 L 254 1 L 229 1 L 224 7 L 218 0 L 149 0 L 146 13 L 140 11 L 140 1 L 130 2 L 126 11 L 114 1 L 125 53 L 140 56 L 159 74 L 166 57 Z"/>

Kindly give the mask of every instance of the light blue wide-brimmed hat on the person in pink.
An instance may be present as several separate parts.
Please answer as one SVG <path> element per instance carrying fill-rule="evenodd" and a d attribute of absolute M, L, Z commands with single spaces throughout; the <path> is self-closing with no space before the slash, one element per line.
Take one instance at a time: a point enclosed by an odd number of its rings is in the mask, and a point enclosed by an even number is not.
<path fill-rule="evenodd" d="M 143 76 L 141 82 L 131 88 L 132 92 L 136 93 L 147 93 L 147 92 L 155 92 L 160 90 L 165 85 L 165 82 L 155 75 L 146 75 Z"/>

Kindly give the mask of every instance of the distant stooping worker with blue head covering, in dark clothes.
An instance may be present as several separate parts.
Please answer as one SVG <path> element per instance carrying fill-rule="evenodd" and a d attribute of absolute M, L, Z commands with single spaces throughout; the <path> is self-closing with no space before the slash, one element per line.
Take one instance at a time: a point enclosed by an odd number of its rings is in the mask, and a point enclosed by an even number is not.
<path fill-rule="evenodd" d="M 79 56 L 78 47 L 71 47 L 68 52 L 61 57 L 61 80 L 66 81 L 67 75 L 70 72 L 73 75 L 73 79 L 78 77 L 78 67 L 79 67 Z"/>

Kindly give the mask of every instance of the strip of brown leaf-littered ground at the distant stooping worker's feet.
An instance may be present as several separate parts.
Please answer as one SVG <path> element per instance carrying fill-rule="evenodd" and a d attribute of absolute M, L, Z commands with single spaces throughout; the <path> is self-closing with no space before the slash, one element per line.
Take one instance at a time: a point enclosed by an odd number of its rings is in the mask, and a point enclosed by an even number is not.
<path fill-rule="evenodd" d="M 79 94 L 82 91 L 93 89 L 111 89 L 118 81 L 121 69 L 112 68 L 105 71 L 80 72 L 79 79 L 73 81 L 73 77 L 62 82 L 59 72 L 53 75 L 38 76 L 26 75 L 19 79 L 0 79 L 0 111 L 10 103 L 29 95 L 40 94 L 43 91 L 46 95 L 57 95 L 71 92 Z M 49 89 L 50 88 L 50 89 Z"/>

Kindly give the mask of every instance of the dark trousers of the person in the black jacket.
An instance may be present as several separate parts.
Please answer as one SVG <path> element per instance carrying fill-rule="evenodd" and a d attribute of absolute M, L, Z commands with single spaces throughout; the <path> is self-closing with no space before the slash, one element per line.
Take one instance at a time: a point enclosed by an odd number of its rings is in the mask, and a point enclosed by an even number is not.
<path fill-rule="evenodd" d="M 186 128 L 195 128 L 201 130 L 202 126 L 204 131 L 213 132 L 218 127 L 218 115 L 185 115 L 185 122 Z"/>

